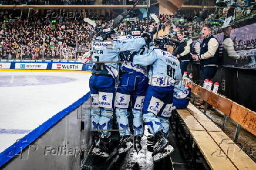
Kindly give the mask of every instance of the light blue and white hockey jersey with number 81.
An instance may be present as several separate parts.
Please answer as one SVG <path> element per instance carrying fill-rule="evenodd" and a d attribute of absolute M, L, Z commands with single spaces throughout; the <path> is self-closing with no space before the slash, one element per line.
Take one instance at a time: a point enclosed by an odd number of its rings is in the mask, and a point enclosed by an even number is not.
<path fill-rule="evenodd" d="M 151 47 L 145 55 L 133 57 L 134 64 L 149 66 L 149 84 L 152 86 L 174 86 L 181 80 L 180 62 L 177 57 L 157 47 Z"/>

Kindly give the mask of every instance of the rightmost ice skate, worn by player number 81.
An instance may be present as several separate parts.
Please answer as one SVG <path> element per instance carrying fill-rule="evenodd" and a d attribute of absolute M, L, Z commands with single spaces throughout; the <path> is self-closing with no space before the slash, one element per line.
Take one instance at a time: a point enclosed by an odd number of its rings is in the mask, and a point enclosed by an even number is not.
<path fill-rule="evenodd" d="M 159 161 L 167 155 L 170 155 L 171 152 L 174 151 L 174 148 L 169 145 L 168 140 L 164 138 L 164 134 L 162 131 L 157 132 L 155 134 L 155 137 L 157 139 L 157 143 L 156 145 L 154 145 L 154 151 L 152 156 L 154 161 Z"/>

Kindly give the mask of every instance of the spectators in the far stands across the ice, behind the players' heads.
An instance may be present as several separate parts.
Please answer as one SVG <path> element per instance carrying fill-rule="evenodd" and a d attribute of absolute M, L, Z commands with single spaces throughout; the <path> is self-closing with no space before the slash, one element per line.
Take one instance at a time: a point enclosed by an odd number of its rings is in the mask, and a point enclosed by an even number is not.
<path fill-rule="evenodd" d="M 170 16 L 168 16 L 170 17 Z M 168 25 L 167 16 L 160 18 Z M 100 20 L 98 27 L 109 26 L 112 21 Z M 135 25 L 123 22 L 117 28 L 119 35 L 127 35 Z M 147 21 L 139 21 L 143 31 L 147 29 Z M 149 31 L 156 32 L 156 23 L 149 21 Z M 89 50 L 90 36 L 93 27 L 85 22 L 63 19 L 62 22 L 51 23 L 48 19 L 16 19 L 1 22 L 0 28 L 0 59 L 75 59 L 83 53 L 76 49 Z M 78 48 L 76 48 L 78 47 Z"/>

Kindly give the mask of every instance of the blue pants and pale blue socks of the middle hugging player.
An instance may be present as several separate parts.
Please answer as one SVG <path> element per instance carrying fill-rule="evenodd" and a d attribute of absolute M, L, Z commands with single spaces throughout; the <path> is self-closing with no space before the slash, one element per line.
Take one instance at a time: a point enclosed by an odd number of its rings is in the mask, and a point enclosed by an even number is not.
<path fill-rule="evenodd" d="M 120 137 L 130 134 L 127 108 L 132 99 L 134 135 L 143 136 L 142 106 L 147 90 L 148 79 L 142 75 L 123 73 L 116 93 L 116 120 Z"/>

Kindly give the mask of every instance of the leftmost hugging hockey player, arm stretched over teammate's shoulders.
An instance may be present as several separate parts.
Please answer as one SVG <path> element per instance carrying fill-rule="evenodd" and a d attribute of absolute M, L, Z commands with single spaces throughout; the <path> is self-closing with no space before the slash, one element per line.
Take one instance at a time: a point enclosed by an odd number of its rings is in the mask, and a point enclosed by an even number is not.
<path fill-rule="evenodd" d="M 117 41 L 116 32 L 112 28 L 100 30 L 100 36 L 92 40 L 92 76 L 89 80 L 91 96 L 92 130 L 100 131 L 93 153 L 108 157 L 108 144 L 112 129 L 114 97 L 116 96 L 116 80 L 119 74 L 119 53 L 130 50 L 138 51 L 146 45 L 149 38 L 138 38 L 130 41 Z M 97 137 L 97 135 L 95 135 Z"/>

